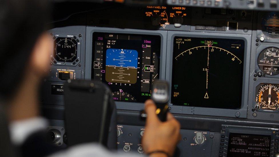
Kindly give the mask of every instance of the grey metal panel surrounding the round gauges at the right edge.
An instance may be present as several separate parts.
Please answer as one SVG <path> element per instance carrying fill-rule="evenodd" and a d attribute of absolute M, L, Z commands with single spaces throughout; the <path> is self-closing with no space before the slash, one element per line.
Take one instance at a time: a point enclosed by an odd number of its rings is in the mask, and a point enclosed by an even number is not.
<path fill-rule="evenodd" d="M 256 86 L 261 83 L 266 84 L 279 84 L 279 75 L 263 75 L 261 77 L 257 76 L 257 73 L 260 70 L 258 66 L 258 56 L 262 50 L 267 47 L 277 47 L 279 48 L 278 38 L 277 39 L 270 39 L 264 40 L 263 42 L 259 41 L 260 36 L 264 36 L 268 39 L 266 34 L 261 33 L 259 36 L 259 32 L 262 32 L 260 23 L 260 17 L 262 17 L 262 13 L 258 13 L 254 15 L 254 19 L 258 19 L 254 21 L 254 28 L 252 33 L 252 41 L 251 41 L 251 66 L 250 66 L 250 85 L 249 85 L 249 95 L 248 95 L 248 110 L 247 110 L 247 118 L 248 119 L 255 119 L 255 120 L 271 120 L 271 121 L 278 121 L 279 120 L 279 112 L 278 110 L 274 111 L 263 111 L 254 110 L 256 105 Z M 257 42 L 258 41 L 258 42 Z M 254 76 L 256 74 L 256 77 Z"/>

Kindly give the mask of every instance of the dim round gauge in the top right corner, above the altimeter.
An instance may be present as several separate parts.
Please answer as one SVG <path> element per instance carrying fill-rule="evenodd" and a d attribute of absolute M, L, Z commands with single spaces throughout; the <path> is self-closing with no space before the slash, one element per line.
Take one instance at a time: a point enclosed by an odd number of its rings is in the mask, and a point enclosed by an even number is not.
<path fill-rule="evenodd" d="M 279 13 L 271 12 L 262 18 L 262 28 L 271 35 L 279 34 Z"/>

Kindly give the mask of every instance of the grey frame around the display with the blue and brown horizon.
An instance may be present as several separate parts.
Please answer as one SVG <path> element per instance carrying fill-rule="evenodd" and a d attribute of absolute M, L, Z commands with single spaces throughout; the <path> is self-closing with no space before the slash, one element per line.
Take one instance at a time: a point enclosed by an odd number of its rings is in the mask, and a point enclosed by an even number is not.
<path fill-rule="evenodd" d="M 160 79 L 165 79 L 166 72 L 166 39 L 167 31 L 151 31 L 139 29 L 119 29 L 119 28 L 102 28 L 102 27 L 86 27 L 86 53 L 85 53 L 85 79 L 91 80 L 91 64 L 92 64 L 92 43 L 94 32 L 105 33 L 126 33 L 126 34 L 143 34 L 143 35 L 159 35 L 161 37 L 161 57 L 160 57 Z M 133 102 L 115 102 L 117 109 L 123 110 L 143 110 L 144 103 Z"/>

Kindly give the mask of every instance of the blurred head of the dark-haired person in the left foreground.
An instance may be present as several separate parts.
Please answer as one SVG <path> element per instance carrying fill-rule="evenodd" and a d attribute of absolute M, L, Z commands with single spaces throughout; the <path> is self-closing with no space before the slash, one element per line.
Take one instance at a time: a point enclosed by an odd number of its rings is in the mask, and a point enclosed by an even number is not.
<path fill-rule="evenodd" d="M 39 80 L 49 65 L 51 46 L 44 31 L 51 11 L 46 0 L 0 3 L 0 98 L 9 100 L 28 79 Z"/>

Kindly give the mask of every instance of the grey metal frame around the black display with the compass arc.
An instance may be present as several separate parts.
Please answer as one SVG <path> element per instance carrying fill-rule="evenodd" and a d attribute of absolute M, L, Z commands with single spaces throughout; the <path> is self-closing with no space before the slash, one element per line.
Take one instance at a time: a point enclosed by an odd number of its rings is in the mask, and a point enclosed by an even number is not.
<path fill-rule="evenodd" d="M 243 87 L 242 87 L 242 104 L 239 110 L 219 109 L 219 108 L 202 108 L 191 106 L 175 106 L 169 102 L 172 109 L 182 108 L 182 114 L 197 114 L 207 116 L 223 116 L 223 117 L 236 117 L 246 118 L 247 116 L 247 103 L 248 103 L 248 84 L 249 84 L 249 68 L 250 68 L 250 47 L 251 35 L 240 34 L 221 34 L 221 33 L 200 33 L 200 32 L 180 32 L 168 31 L 168 44 L 167 44 L 167 61 L 166 67 L 166 80 L 172 82 L 172 61 L 173 61 L 173 42 L 175 36 L 181 37 L 210 37 L 210 38 L 224 38 L 224 39 L 243 39 L 245 41 L 244 51 L 244 69 L 243 69 Z M 171 88 L 171 86 L 170 86 Z M 171 95 L 171 93 L 170 93 Z M 174 113 L 174 112 L 173 112 Z"/>

